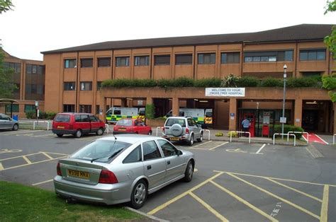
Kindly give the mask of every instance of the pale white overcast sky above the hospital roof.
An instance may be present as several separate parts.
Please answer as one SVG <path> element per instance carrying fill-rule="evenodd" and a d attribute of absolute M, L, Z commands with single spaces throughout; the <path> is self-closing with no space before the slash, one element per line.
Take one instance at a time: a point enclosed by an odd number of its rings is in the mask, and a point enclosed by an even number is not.
<path fill-rule="evenodd" d="M 0 14 L 6 52 L 40 52 L 97 42 L 250 33 L 302 23 L 336 24 L 326 0 L 12 0 Z"/>

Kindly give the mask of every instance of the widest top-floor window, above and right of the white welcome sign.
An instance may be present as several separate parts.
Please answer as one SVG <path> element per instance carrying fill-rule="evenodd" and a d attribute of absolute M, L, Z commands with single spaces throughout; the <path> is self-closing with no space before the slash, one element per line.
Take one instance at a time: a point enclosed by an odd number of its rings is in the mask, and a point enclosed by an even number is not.
<path fill-rule="evenodd" d="M 244 62 L 293 61 L 293 50 L 245 52 Z"/>

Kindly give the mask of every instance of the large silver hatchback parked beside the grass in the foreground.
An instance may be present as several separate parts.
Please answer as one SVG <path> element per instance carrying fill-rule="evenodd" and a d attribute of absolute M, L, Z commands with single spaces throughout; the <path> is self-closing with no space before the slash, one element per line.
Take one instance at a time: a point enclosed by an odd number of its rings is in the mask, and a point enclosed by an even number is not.
<path fill-rule="evenodd" d="M 139 209 L 151 194 L 184 178 L 190 182 L 194 154 L 167 139 L 120 134 L 97 139 L 57 163 L 55 192 L 69 201 L 130 202 Z"/>

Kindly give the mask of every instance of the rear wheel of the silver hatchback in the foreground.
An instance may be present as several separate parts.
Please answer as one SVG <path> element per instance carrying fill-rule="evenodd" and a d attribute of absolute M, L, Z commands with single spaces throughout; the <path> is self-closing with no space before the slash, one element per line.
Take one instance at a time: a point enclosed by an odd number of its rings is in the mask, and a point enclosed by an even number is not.
<path fill-rule="evenodd" d="M 132 194 L 130 196 L 130 206 L 134 209 L 139 209 L 145 204 L 148 191 L 145 180 L 139 180 L 133 187 Z"/>

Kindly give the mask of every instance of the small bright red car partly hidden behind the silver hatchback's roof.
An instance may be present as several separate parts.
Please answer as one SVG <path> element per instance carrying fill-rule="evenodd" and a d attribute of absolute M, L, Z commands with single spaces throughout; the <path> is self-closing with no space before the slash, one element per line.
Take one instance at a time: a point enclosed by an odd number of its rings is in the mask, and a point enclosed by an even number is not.
<path fill-rule="evenodd" d="M 152 135 L 152 127 L 147 126 L 142 119 L 121 119 L 113 127 L 113 134 Z"/>

